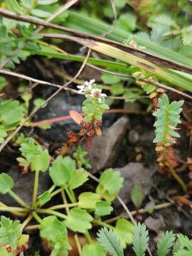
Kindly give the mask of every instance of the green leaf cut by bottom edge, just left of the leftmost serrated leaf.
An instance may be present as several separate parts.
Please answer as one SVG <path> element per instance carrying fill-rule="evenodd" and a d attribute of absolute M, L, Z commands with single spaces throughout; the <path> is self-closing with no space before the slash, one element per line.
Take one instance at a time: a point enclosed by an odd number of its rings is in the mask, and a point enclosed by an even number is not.
<path fill-rule="evenodd" d="M 83 245 L 82 256 L 106 256 L 106 252 L 98 243 L 92 243 L 89 245 Z"/>

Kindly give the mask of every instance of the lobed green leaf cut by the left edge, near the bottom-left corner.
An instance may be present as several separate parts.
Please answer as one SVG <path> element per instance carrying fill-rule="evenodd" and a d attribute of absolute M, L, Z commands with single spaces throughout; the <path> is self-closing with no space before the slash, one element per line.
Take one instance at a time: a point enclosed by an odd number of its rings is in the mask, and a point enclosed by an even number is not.
<path fill-rule="evenodd" d="M 11 220 L 1 216 L 0 221 L 0 247 L 9 245 L 16 250 L 18 239 L 21 238 L 21 224 L 18 220 Z"/>

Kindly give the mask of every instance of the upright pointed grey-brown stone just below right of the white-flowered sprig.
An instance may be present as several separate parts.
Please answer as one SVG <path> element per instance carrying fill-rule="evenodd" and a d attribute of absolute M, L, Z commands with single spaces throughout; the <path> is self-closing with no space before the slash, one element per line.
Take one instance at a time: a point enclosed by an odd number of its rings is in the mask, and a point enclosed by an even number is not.
<path fill-rule="evenodd" d="M 102 136 L 92 139 L 92 146 L 88 149 L 92 174 L 112 166 L 117 158 L 122 138 L 128 128 L 129 119 L 120 117 L 110 128 L 102 130 Z"/>

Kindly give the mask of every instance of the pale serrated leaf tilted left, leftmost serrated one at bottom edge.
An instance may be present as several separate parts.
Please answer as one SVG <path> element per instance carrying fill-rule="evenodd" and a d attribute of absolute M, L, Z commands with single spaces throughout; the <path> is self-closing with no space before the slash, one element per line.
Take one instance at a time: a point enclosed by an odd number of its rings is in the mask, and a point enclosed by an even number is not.
<path fill-rule="evenodd" d="M 112 256 L 123 256 L 124 252 L 122 249 L 121 242 L 117 235 L 115 235 L 112 230 L 107 230 L 107 228 L 102 228 L 97 233 L 97 240 L 102 245 L 102 247 L 107 250 Z"/>

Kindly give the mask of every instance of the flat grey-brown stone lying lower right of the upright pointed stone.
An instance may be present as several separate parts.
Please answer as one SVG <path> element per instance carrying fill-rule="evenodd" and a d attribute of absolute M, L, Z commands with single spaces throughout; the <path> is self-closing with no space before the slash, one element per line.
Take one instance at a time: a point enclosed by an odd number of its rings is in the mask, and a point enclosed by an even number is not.
<path fill-rule="evenodd" d="M 119 171 L 124 178 L 123 187 L 119 192 L 119 197 L 122 198 L 124 203 L 132 201 L 131 193 L 135 183 L 141 183 L 144 196 L 148 195 L 152 183 L 152 176 L 156 169 L 146 168 L 142 163 L 131 162 L 122 168 L 115 168 L 114 171 Z M 114 206 L 120 206 L 119 201 L 114 201 Z"/>

